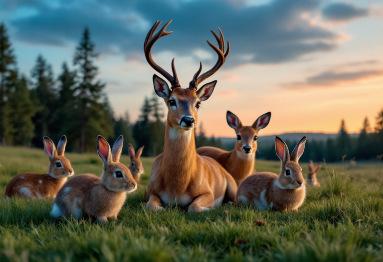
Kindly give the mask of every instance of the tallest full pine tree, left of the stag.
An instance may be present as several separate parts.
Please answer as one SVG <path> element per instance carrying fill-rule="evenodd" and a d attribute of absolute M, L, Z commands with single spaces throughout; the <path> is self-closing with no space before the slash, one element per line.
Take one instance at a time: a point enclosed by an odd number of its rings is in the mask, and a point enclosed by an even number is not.
<path fill-rule="evenodd" d="M 79 152 L 81 153 L 85 151 L 86 143 L 89 143 L 89 147 L 91 147 L 91 141 L 94 144 L 95 132 L 99 132 L 106 139 L 113 134 L 111 110 L 102 93 L 105 84 L 96 80 L 98 68 L 94 65 L 94 60 L 97 56 L 90 39 L 89 29 L 86 27 L 73 59 L 80 74 L 80 81 L 75 92 L 78 107 Z M 104 102 L 100 103 L 101 99 L 104 99 Z"/>

